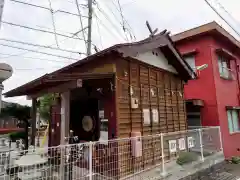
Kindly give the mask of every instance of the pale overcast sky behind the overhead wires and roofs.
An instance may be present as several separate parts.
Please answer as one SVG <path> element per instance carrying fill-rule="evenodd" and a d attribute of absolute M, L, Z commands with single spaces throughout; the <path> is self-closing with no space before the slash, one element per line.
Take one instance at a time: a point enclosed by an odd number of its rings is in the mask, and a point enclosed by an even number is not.
<path fill-rule="evenodd" d="M 20 24 L 51 32 L 54 31 L 55 27 L 57 33 L 73 37 L 73 34 L 81 29 L 80 18 L 62 13 L 61 11 L 78 14 L 75 0 L 20 1 L 47 8 L 50 8 L 51 4 L 53 11 L 5 0 L 0 29 L 0 62 L 10 64 L 13 67 L 13 75 L 3 82 L 4 92 L 85 57 L 84 54 L 79 55 L 74 52 L 86 53 L 86 46 L 82 40 L 84 38 L 81 32 L 78 36 L 74 36 L 74 39 L 63 36 L 55 38 L 54 34 L 7 24 Z M 119 2 L 121 10 L 117 0 L 96 0 L 96 4 L 93 5 L 92 43 L 99 50 L 116 43 L 132 42 L 146 38 L 149 35 L 145 25 L 146 20 L 150 22 L 153 29 L 158 28 L 159 31 L 167 29 L 171 34 L 216 21 L 235 38 L 239 39 L 239 36 L 218 17 L 204 0 L 120 0 Z M 240 32 L 240 13 L 238 8 L 240 7 L 240 1 L 209 0 L 209 2 Z M 79 6 L 81 14 L 87 16 L 88 10 L 85 6 L 87 0 L 78 0 L 78 3 L 81 4 Z M 86 17 L 82 17 L 82 24 L 83 27 L 87 27 Z M 123 25 L 126 28 L 125 32 L 122 28 Z M 87 33 L 85 32 L 86 35 Z M 55 48 L 59 47 L 74 52 L 33 47 L 7 42 L 4 39 Z M 6 47 L 6 45 L 55 54 L 61 57 L 10 48 Z M 92 51 L 94 53 L 94 50 Z M 63 56 L 67 58 L 63 58 Z M 4 100 L 30 105 L 30 101 L 26 97 L 4 98 Z"/>

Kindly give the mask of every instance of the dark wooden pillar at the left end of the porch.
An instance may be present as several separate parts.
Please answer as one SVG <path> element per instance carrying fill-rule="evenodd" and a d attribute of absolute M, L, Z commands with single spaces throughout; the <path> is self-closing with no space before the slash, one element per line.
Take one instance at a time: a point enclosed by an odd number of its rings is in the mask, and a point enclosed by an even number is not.
<path fill-rule="evenodd" d="M 31 112 L 31 124 L 32 124 L 32 134 L 31 134 L 31 145 L 35 146 L 36 137 L 36 115 L 37 115 L 37 99 L 32 99 L 32 112 Z"/>

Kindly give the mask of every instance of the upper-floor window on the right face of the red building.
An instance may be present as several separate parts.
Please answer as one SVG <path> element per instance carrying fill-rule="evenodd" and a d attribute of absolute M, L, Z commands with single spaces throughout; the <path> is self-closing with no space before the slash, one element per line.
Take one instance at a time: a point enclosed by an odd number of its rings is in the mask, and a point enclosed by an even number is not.
<path fill-rule="evenodd" d="M 231 79 L 230 61 L 224 56 L 218 55 L 218 69 L 220 77 Z"/>

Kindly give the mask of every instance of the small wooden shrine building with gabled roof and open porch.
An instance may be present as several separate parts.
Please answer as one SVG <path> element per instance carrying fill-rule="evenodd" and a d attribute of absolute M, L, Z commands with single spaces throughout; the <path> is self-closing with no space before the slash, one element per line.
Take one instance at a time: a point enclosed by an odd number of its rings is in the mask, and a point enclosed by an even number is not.
<path fill-rule="evenodd" d="M 114 45 L 5 96 L 27 95 L 36 111 L 37 98 L 56 94 L 49 131 L 49 145 L 56 146 L 65 143 L 70 130 L 79 141 L 185 130 L 183 85 L 193 76 L 193 70 L 163 32 L 136 43 Z M 146 151 L 154 151 L 154 147 Z M 116 174 L 133 168 L 121 161 L 120 153 L 115 155 L 115 169 L 121 171 Z M 157 159 L 155 155 L 153 159 Z M 140 164 L 147 164 L 143 159 Z"/>

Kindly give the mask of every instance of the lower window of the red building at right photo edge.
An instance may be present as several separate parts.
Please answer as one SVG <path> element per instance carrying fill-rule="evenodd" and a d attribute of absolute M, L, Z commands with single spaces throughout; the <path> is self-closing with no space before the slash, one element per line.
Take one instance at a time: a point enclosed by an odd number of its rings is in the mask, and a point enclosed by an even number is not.
<path fill-rule="evenodd" d="M 240 132 L 239 127 L 239 111 L 227 110 L 228 128 L 230 133 Z"/>

